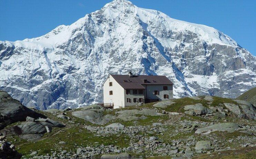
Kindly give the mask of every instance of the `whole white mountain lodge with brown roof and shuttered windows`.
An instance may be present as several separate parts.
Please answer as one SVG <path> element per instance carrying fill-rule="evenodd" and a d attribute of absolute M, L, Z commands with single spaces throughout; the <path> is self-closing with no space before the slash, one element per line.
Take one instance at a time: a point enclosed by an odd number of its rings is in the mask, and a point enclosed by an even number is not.
<path fill-rule="evenodd" d="M 104 103 L 114 109 L 173 99 L 173 83 L 166 76 L 108 75 L 103 85 Z"/>

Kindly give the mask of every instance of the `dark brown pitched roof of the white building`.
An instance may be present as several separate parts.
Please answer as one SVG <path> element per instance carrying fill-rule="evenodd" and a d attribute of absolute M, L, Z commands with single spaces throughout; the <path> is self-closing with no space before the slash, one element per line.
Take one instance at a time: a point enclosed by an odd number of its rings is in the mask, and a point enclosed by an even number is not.
<path fill-rule="evenodd" d="M 139 75 L 111 75 L 124 89 L 145 89 L 142 85 L 170 85 L 173 84 L 166 76 Z M 147 83 L 144 83 L 147 80 Z"/>

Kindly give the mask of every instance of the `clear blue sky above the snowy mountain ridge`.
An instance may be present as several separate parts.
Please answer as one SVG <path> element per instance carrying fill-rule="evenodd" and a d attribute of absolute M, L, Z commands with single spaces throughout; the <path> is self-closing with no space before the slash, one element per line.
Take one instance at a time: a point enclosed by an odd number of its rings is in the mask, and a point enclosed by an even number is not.
<path fill-rule="evenodd" d="M 0 40 L 35 38 L 70 25 L 111 0 L 0 0 Z M 256 0 L 130 0 L 141 8 L 204 24 L 229 35 L 256 56 Z"/>

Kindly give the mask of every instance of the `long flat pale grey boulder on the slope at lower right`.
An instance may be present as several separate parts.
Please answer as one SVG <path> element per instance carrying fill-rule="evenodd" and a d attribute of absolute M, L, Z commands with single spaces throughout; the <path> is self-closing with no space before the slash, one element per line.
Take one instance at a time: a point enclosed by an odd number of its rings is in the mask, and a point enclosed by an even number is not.
<path fill-rule="evenodd" d="M 196 134 L 200 134 L 204 132 L 204 134 L 209 134 L 210 132 L 213 131 L 228 131 L 228 132 L 233 132 L 237 130 L 238 124 L 236 123 L 221 123 L 221 124 L 214 124 L 211 126 L 199 128 L 195 131 Z"/>

